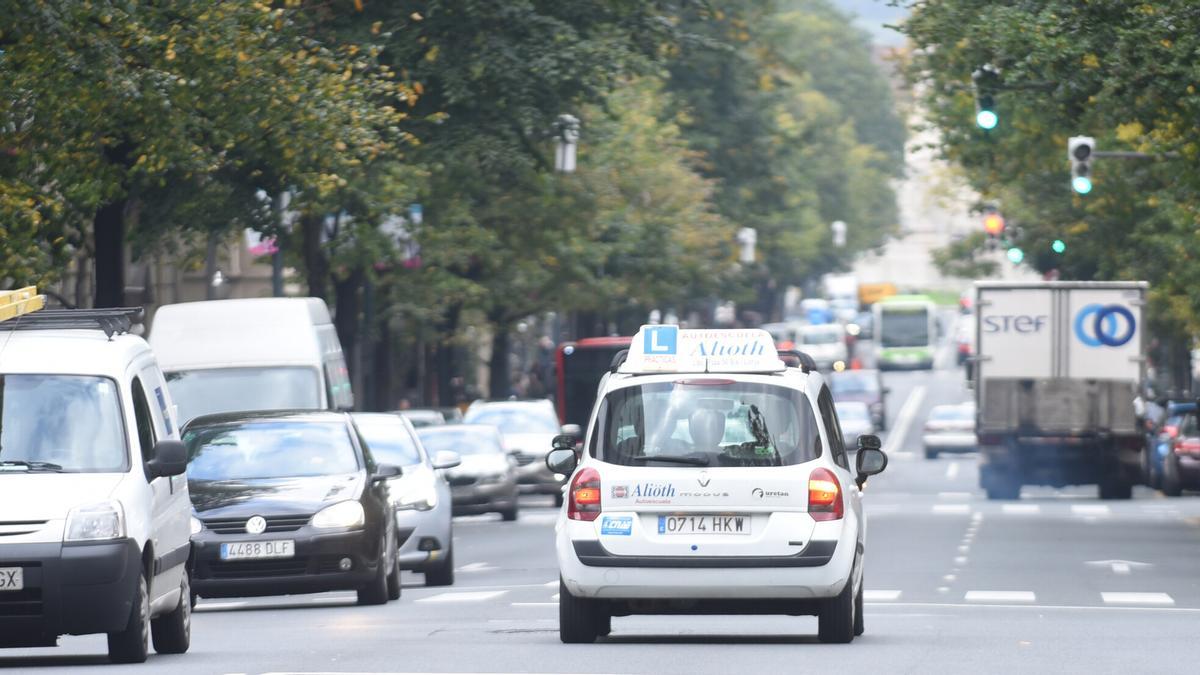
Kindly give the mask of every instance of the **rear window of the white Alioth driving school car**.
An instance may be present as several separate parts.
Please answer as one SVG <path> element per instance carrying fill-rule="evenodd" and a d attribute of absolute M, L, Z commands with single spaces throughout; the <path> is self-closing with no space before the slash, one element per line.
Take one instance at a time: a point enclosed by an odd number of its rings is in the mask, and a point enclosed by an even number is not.
<path fill-rule="evenodd" d="M 820 456 L 821 437 L 803 392 L 684 380 L 611 392 L 590 452 L 623 466 L 790 466 Z"/>

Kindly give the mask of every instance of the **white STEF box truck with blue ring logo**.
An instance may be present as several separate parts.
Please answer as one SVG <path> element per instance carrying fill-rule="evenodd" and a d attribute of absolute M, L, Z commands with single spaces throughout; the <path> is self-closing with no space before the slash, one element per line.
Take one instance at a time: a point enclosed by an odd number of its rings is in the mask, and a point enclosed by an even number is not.
<path fill-rule="evenodd" d="M 989 498 L 1099 485 L 1129 498 L 1141 435 L 1144 281 L 977 282 L 976 436 Z"/>

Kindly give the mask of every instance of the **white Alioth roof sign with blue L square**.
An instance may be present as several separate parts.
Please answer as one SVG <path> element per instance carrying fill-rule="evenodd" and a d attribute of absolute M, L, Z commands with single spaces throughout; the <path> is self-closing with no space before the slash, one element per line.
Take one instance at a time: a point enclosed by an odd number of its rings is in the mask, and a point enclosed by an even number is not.
<path fill-rule="evenodd" d="M 760 328 L 733 330 L 680 329 L 643 325 L 629 346 L 618 372 L 782 372 L 770 333 Z"/>

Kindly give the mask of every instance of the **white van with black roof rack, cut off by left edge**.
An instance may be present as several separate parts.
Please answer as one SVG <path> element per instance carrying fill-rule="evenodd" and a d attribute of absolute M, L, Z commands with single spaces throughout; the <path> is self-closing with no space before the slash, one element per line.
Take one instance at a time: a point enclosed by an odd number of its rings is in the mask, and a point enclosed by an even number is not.
<path fill-rule="evenodd" d="M 151 635 L 158 653 L 191 643 L 187 453 L 154 353 L 125 334 L 140 311 L 0 321 L 0 647 L 108 633 L 112 661 L 138 663 Z"/>

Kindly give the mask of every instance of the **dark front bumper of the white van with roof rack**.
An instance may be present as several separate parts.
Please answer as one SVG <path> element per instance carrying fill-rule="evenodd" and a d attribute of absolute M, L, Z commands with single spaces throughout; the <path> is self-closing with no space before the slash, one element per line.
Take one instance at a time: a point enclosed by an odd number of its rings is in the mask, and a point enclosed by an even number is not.
<path fill-rule="evenodd" d="M 24 590 L 0 592 L 0 646 L 53 645 L 128 623 L 142 551 L 133 539 L 0 544 L 0 567 L 20 567 L 25 579 Z"/>

